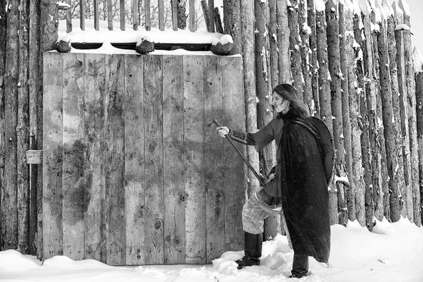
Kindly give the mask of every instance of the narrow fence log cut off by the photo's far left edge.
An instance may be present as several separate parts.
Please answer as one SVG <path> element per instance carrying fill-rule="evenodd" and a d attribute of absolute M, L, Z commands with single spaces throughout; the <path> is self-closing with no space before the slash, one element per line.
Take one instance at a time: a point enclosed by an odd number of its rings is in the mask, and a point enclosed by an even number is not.
<path fill-rule="evenodd" d="M 0 0 L 0 38 L 6 38 L 6 2 L 5 0 Z M 6 158 L 6 132 L 5 132 L 5 104 L 4 104 L 4 76 L 6 75 L 5 70 L 5 61 L 6 61 L 6 40 L 0 41 L 0 250 L 3 250 L 3 233 L 6 226 L 6 222 L 2 221 L 4 209 L 3 207 L 3 191 L 5 191 L 4 183 L 4 166 Z"/>

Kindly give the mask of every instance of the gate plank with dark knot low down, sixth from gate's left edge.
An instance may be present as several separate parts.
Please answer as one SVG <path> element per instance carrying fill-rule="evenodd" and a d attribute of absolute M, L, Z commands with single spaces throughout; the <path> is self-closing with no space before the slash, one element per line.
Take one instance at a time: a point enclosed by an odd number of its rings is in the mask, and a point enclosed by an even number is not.
<path fill-rule="evenodd" d="M 161 56 L 144 61 L 145 264 L 164 262 Z"/>

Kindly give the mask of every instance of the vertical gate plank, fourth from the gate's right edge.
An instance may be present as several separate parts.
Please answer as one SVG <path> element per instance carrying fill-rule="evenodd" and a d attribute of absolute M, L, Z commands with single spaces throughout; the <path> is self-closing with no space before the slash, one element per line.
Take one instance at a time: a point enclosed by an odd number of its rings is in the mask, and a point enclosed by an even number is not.
<path fill-rule="evenodd" d="M 185 263 L 183 56 L 163 56 L 164 263 Z"/>

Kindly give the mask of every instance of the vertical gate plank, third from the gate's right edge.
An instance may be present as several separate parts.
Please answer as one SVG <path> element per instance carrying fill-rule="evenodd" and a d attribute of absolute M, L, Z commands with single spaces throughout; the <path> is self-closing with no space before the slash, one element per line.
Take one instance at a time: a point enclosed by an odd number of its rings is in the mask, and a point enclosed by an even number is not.
<path fill-rule="evenodd" d="M 206 262 L 203 56 L 184 56 L 185 262 Z"/>

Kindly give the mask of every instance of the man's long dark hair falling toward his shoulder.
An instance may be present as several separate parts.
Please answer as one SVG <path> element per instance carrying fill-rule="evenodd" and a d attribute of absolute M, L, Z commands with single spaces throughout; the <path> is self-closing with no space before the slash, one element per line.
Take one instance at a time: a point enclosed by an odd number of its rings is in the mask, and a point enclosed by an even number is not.
<path fill-rule="evenodd" d="M 293 85 L 286 83 L 280 84 L 274 87 L 273 92 L 279 94 L 283 99 L 290 101 L 290 112 L 295 116 L 300 118 L 310 116 L 308 107 L 302 102 L 302 98 L 298 97 L 297 90 L 295 90 Z M 279 116 L 281 115 L 282 113 L 279 113 Z"/>

